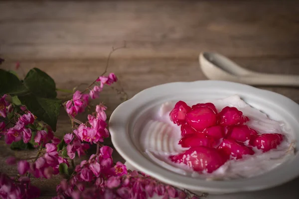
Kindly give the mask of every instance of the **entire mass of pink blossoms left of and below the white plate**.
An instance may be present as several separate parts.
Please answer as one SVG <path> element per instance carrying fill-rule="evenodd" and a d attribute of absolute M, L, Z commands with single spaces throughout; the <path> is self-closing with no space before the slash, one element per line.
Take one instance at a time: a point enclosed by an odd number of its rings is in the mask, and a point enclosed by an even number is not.
<path fill-rule="evenodd" d="M 76 91 L 72 100 L 63 104 L 72 120 L 73 132 L 65 134 L 62 140 L 54 137 L 52 129 L 37 121 L 24 106 L 19 106 L 21 111 L 14 113 L 14 123 L 0 122 L 0 130 L 7 144 L 22 140 L 39 146 L 36 157 L 29 160 L 7 158 L 7 164 L 17 165 L 19 175 L 9 178 L 0 173 L 0 198 L 37 198 L 40 192 L 30 185 L 30 175 L 48 179 L 60 173 L 67 179 L 57 186 L 57 196 L 54 199 L 147 199 L 153 195 L 162 196 L 163 199 L 190 199 L 190 195 L 180 189 L 158 182 L 141 172 L 127 170 L 121 162 L 113 162 L 113 149 L 101 144 L 109 137 L 106 106 L 97 105 L 95 112 L 88 115 L 85 123 L 75 119 L 78 113 L 85 111 L 90 99 L 99 98 L 104 85 L 111 85 L 116 81 L 117 77 L 113 73 L 101 76 L 89 86 L 89 94 L 84 94 L 88 89 L 84 92 Z M 3 118 L 12 110 L 10 102 L 5 98 L 6 95 L 0 99 L 0 116 Z M 8 124 L 13 125 L 5 129 Z M 73 159 L 76 155 L 85 155 L 92 144 L 97 145 L 97 153 L 75 166 Z M 72 169 L 68 158 L 72 162 Z M 63 169 L 67 171 L 62 171 Z"/>

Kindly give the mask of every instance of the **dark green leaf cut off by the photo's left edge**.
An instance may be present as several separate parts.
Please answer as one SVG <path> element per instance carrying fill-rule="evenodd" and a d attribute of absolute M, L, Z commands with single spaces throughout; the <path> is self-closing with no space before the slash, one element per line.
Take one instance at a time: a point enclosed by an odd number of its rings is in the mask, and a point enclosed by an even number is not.
<path fill-rule="evenodd" d="M 15 75 L 0 69 L 0 95 L 21 95 L 25 93 L 28 93 L 28 90 Z"/>

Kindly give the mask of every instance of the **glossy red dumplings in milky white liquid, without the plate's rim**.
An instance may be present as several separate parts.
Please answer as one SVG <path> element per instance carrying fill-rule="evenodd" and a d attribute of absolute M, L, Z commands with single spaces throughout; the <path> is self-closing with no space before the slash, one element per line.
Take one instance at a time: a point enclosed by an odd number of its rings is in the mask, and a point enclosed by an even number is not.
<path fill-rule="evenodd" d="M 295 136 L 239 96 L 169 101 L 141 125 L 140 142 L 156 164 L 180 175 L 230 180 L 261 175 L 295 155 Z"/>

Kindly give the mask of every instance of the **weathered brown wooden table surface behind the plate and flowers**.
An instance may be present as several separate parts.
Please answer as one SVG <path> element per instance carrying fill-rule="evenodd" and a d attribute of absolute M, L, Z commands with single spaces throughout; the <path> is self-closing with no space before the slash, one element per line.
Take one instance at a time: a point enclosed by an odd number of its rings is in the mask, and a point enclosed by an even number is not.
<path fill-rule="evenodd" d="M 109 71 L 118 75 L 120 84 L 116 87 L 122 87 L 130 98 L 163 83 L 205 80 L 198 64 L 201 51 L 217 51 L 259 72 L 299 75 L 299 3 L 0 1 L 0 53 L 6 59 L 3 67 L 14 68 L 16 61 L 24 72 L 38 67 L 55 80 L 57 88 L 72 89 L 92 82 L 104 70 L 112 47 L 121 46 L 123 41 L 127 48 L 113 54 Z M 22 75 L 21 70 L 18 73 Z M 299 89 L 260 88 L 299 103 Z M 106 102 L 109 114 L 121 103 L 112 89 L 106 89 L 93 104 L 100 101 Z M 84 120 L 86 114 L 79 118 Z M 70 121 L 61 110 L 56 134 L 61 137 L 70 130 Z M 5 157 L 35 154 L 10 151 L 3 140 L 0 144 L 0 171 L 9 175 L 16 170 L 5 166 Z M 123 161 L 117 152 L 114 157 Z M 58 182 L 59 176 L 33 180 L 44 199 L 55 195 Z M 286 187 L 290 186 L 295 188 L 294 183 Z M 299 198 L 297 189 L 293 190 L 293 196 Z"/>

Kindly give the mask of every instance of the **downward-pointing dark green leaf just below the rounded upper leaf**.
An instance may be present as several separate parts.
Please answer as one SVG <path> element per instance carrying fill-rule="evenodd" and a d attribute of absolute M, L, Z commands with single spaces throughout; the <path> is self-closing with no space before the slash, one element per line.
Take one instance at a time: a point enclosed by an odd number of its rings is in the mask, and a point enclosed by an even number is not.
<path fill-rule="evenodd" d="M 60 100 L 39 98 L 33 94 L 19 96 L 22 104 L 26 105 L 38 120 L 42 120 L 56 131 L 57 119 L 60 111 Z"/>

